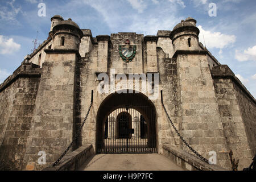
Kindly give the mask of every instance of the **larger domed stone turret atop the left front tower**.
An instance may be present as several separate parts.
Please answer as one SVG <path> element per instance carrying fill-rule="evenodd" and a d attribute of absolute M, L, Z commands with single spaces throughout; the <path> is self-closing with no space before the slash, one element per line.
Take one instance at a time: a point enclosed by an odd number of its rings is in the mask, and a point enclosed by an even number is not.
<path fill-rule="evenodd" d="M 53 49 L 73 49 L 79 51 L 82 31 L 72 19 L 63 20 L 52 28 Z"/>

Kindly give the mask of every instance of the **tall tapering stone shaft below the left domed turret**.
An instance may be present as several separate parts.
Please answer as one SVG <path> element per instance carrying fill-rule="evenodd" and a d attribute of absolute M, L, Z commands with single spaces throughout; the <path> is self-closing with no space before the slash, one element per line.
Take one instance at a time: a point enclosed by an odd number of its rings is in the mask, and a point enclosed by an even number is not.
<path fill-rule="evenodd" d="M 79 53 L 67 49 L 48 49 L 46 53 L 23 169 L 40 170 L 52 164 L 73 137 L 75 65 Z M 39 151 L 46 152 L 46 165 L 38 164 Z"/>

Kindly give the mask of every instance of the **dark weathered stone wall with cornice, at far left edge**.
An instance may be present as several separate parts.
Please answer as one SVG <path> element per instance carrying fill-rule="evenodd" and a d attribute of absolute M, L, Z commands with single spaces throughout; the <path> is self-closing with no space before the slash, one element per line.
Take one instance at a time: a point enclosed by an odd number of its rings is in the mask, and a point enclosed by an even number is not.
<path fill-rule="evenodd" d="M 0 87 L 0 161 L 20 169 L 31 128 L 40 81 L 40 67 L 23 63 Z"/>

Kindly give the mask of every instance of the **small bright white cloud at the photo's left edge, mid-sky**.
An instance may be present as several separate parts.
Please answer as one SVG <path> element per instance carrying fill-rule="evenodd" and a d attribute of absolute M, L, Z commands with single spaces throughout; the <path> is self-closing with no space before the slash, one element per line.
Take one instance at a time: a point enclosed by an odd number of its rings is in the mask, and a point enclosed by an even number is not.
<path fill-rule="evenodd" d="M 0 35 L 0 53 L 2 55 L 12 54 L 19 51 L 20 44 L 15 43 L 13 38 L 7 38 L 6 36 Z"/>

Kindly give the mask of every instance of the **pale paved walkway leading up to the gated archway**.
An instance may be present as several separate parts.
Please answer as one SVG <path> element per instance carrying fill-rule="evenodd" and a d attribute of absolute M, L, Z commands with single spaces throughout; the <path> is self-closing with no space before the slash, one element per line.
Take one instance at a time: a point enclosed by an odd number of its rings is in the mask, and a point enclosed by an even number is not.
<path fill-rule="evenodd" d="M 98 154 L 81 166 L 80 171 L 184 171 L 160 154 Z"/>

